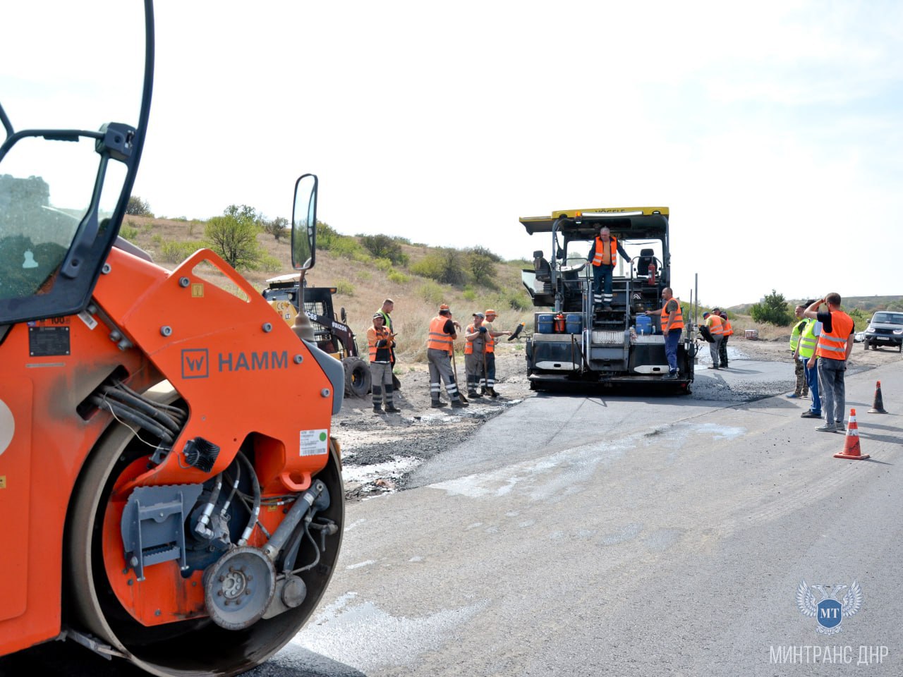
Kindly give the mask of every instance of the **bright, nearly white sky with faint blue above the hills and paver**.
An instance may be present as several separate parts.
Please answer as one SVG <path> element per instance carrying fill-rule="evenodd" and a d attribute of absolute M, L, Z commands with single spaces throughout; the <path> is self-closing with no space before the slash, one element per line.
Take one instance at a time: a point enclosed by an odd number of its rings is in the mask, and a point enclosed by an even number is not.
<path fill-rule="evenodd" d="M 666 205 L 682 297 L 694 274 L 723 305 L 903 293 L 898 3 L 156 13 L 135 193 L 158 215 L 288 217 L 294 179 L 316 172 L 340 232 L 514 258 L 548 248 L 520 216 Z"/>

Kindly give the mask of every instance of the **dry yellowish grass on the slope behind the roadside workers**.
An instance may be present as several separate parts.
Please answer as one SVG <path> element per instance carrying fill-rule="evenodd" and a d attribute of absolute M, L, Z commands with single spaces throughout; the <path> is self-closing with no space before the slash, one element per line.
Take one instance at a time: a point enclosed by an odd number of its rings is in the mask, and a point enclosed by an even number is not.
<path fill-rule="evenodd" d="M 136 227 L 138 235 L 135 244 L 142 247 L 154 257 L 154 261 L 172 270 L 178 264 L 163 262 L 160 256 L 162 238 L 165 241 L 199 240 L 204 235 L 204 224 L 198 221 L 178 221 L 172 219 L 144 218 L 126 216 L 126 225 Z M 266 280 L 276 275 L 292 272 L 292 254 L 288 240 L 276 241 L 275 237 L 266 234 L 257 236 L 257 242 L 265 252 L 280 261 L 282 267 L 275 272 L 245 271 L 242 276 L 257 290 L 263 290 Z M 429 247 L 403 245 L 403 251 L 410 256 L 411 263 L 430 252 Z M 348 323 L 358 337 L 358 348 L 366 352 L 367 329 L 372 316 L 386 298 L 395 301 L 392 321 L 398 334 L 397 354 L 409 362 L 425 362 L 426 334 L 430 320 L 435 317 L 439 303 L 448 303 L 452 307 L 453 317 L 467 327 L 472 320 L 471 313 L 493 308 L 499 312 L 496 320 L 497 329 L 514 329 L 517 322 L 532 320 L 533 310 L 514 311 L 506 299 L 507 290 L 521 290 L 520 269 L 517 264 L 497 264 L 497 290 L 476 287 L 465 291 L 450 285 L 442 285 L 410 275 L 407 283 L 394 283 L 388 279 L 386 271 L 380 271 L 374 264 L 363 264 L 347 258 L 330 255 L 329 252 L 318 251 L 316 264 L 307 274 L 307 282 L 318 287 L 340 287 L 346 291 L 334 296 L 337 307 L 345 308 Z M 406 270 L 400 272 L 408 274 Z M 211 283 L 237 292 L 236 286 L 223 274 L 215 270 L 199 270 L 200 276 Z M 429 292 L 424 298 L 424 289 Z M 465 294 L 472 296 L 468 301 Z M 438 301 L 437 301 L 438 298 Z M 463 350 L 463 338 L 456 342 L 456 348 Z"/>

